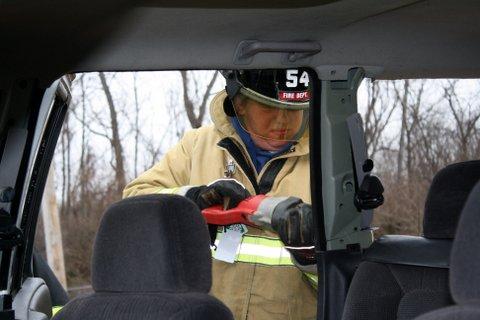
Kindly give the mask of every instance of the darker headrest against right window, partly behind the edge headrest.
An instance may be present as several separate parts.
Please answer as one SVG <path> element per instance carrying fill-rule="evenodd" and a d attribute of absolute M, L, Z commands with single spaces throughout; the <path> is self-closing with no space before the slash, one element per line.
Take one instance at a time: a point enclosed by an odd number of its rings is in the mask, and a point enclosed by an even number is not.
<path fill-rule="evenodd" d="M 430 239 L 453 239 L 468 194 L 480 180 L 480 161 L 446 166 L 433 178 L 425 202 L 423 235 Z"/>

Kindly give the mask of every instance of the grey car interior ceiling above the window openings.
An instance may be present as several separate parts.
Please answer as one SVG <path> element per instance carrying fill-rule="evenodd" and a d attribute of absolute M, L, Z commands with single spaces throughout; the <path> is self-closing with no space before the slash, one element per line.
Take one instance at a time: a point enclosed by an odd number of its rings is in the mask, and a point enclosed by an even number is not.
<path fill-rule="evenodd" d="M 242 40 L 313 41 L 298 64 L 323 79 L 480 76 L 475 0 L 5 1 L 0 80 L 69 72 L 287 67 L 263 53 L 234 63 Z"/>

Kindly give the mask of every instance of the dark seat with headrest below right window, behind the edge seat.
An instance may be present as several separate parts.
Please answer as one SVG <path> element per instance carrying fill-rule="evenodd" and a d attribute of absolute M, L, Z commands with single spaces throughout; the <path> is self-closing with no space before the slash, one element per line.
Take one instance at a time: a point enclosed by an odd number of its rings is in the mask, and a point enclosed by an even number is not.
<path fill-rule="evenodd" d="M 425 203 L 423 237 L 383 236 L 352 279 L 343 320 L 413 319 L 451 305 L 449 256 L 463 205 L 480 180 L 480 161 L 440 170 Z"/>

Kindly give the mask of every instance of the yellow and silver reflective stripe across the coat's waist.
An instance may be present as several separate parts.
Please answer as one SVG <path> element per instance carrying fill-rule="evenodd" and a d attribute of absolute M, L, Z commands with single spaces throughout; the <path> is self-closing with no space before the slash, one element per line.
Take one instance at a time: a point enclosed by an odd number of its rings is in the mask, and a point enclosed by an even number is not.
<path fill-rule="evenodd" d="M 219 241 L 221 233 L 217 234 Z M 212 249 L 212 257 L 215 251 Z M 290 253 L 283 246 L 280 239 L 244 235 L 237 250 L 235 262 L 256 263 L 268 266 L 293 266 Z"/>

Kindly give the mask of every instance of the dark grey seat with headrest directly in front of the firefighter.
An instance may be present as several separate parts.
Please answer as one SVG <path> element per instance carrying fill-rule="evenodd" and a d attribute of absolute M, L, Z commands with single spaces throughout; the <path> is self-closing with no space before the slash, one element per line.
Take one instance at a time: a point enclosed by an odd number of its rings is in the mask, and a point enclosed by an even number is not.
<path fill-rule="evenodd" d="M 56 320 L 233 319 L 208 295 L 210 237 L 184 197 L 148 195 L 111 205 L 95 239 L 94 293 L 70 301 Z"/>

